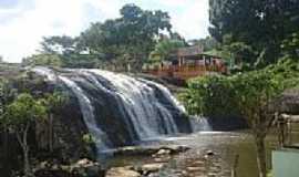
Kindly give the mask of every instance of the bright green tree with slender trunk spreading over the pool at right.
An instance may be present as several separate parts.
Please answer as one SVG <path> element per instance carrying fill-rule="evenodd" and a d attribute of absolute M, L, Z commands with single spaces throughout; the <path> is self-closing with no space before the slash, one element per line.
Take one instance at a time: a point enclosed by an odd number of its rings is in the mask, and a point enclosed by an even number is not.
<path fill-rule="evenodd" d="M 266 177 L 265 137 L 275 119 L 274 107 L 286 88 L 296 86 L 298 79 L 298 63 L 282 60 L 264 70 L 192 80 L 182 100 L 192 114 L 244 116 L 255 138 L 259 176 Z"/>

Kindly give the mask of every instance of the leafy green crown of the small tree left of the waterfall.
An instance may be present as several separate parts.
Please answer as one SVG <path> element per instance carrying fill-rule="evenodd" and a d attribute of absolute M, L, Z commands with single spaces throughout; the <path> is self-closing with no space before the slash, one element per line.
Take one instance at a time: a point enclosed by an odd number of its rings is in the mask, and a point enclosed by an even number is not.
<path fill-rule="evenodd" d="M 12 132 L 23 131 L 28 123 L 34 122 L 35 118 L 43 118 L 45 111 L 39 100 L 35 101 L 32 95 L 23 93 L 6 107 L 0 122 Z"/>

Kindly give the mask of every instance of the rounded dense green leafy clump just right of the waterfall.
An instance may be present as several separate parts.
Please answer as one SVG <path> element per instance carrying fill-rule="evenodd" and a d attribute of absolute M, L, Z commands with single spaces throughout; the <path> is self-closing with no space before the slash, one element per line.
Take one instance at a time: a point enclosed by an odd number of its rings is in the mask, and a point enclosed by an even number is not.
<path fill-rule="evenodd" d="M 217 116 L 230 113 L 234 106 L 228 102 L 234 95 L 229 80 L 221 75 L 198 77 L 188 82 L 188 90 L 179 95 L 189 114 Z"/>

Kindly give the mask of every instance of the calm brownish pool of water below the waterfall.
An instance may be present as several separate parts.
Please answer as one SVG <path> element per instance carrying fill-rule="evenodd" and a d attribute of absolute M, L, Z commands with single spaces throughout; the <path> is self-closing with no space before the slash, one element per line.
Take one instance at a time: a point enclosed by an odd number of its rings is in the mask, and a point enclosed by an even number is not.
<path fill-rule="evenodd" d="M 299 143 L 298 132 L 292 135 L 293 143 Z M 270 133 L 266 138 L 268 168 L 271 168 L 271 149 L 278 147 L 277 136 Z M 221 176 L 230 177 L 230 169 L 239 156 L 237 174 L 241 177 L 255 177 L 257 174 L 256 152 L 254 138 L 248 131 L 243 132 L 200 132 L 177 137 L 165 137 L 157 145 L 186 145 L 192 147 L 187 153 L 177 155 L 168 162 L 163 175 L 175 176 L 172 171 L 187 171 L 187 176 Z M 206 157 L 206 152 L 213 152 L 213 157 Z M 153 162 L 148 156 L 122 156 L 110 160 L 111 166 L 141 165 Z M 202 165 L 202 167 L 199 167 Z M 199 171 L 188 171 L 198 168 Z M 195 169 L 196 170 L 196 169 Z M 195 173 L 192 175 L 192 173 Z M 168 175 L 167 175 L 168 174 Z M 212 174 L 212 175 L 208 175 Z M 179 175 L 177 175 L 179 176 Z"/>

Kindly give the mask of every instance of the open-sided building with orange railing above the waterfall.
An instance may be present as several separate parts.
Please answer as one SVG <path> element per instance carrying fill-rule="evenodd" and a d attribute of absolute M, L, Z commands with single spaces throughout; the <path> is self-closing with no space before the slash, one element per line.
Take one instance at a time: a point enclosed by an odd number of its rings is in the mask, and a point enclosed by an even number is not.
<path fill-rule="evenodd" d="M 185 81 L 212 72 L 227 73 L 227 67 L 221 58 L 205 54 L 200 45 L 194 45 L 177 49 L 169 61 L 161 62 L 158 66 L 146 70 L 146 72 Z"/>

